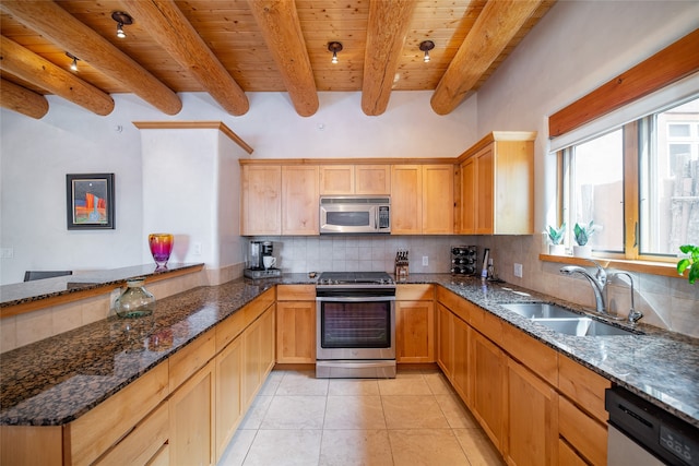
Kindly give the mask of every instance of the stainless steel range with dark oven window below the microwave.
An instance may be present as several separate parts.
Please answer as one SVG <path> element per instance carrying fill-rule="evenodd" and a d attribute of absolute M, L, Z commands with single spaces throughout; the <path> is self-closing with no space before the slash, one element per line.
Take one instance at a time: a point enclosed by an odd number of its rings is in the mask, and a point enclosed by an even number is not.
<path fill-rule="evenodd" d="M 395 283 L 389 274 L 322 273 L 316 302 L 317 378 L 395 378 Z"/>

